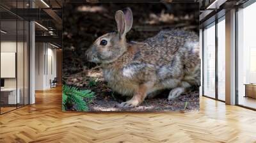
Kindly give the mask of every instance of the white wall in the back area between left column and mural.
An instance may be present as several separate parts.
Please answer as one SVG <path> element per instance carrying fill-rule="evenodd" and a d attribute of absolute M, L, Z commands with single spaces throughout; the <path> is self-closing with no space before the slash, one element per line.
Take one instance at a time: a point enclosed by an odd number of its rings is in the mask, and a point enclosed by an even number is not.
<path fill-rule="evenodd" d="M 35 47 L 35 89 L 49 89 L 51 88 L 50 80 L 57 76 L 56 49 L 49 43 L 36 43 Z"/>

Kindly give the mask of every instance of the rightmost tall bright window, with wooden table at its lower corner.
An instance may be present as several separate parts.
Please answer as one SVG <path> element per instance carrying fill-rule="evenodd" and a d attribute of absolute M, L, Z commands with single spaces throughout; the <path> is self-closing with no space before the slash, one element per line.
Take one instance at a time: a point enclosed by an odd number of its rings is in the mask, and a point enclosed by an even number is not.
<path fill-rule="evenodd" d="M 256 3 L 237 11 L 237 102 L 256 109 Z"/>

